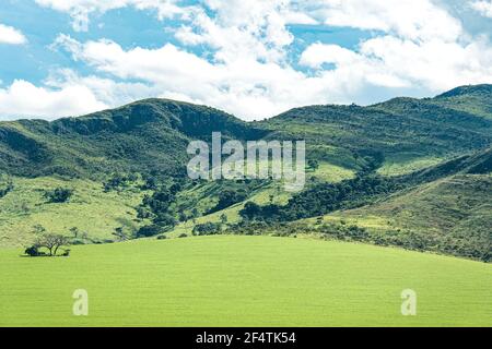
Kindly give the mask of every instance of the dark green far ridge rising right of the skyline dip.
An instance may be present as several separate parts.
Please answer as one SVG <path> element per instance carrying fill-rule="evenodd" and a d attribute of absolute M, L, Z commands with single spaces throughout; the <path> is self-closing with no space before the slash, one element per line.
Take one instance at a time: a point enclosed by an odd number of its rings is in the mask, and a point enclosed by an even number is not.
<path fill-rule="evenodd" d="M 492 93 L 480 98 L 487 104 Z M 383 166 L 412 171 L 491 144 L 492 118 L 450 108 L 449 100 L 441 106 L 440 100 L 443 97 L 396 98 L 370 107 L 304 107 L 261 124 L 276 136 L 307 140 L 313 157 L 355 167 L 370 155 L 382 158 Z"/>

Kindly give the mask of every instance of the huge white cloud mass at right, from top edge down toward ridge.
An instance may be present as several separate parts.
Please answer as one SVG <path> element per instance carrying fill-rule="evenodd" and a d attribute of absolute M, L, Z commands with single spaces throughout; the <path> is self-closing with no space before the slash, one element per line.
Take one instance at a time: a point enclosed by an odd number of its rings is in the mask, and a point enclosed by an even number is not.
<path fill-rule="evenodd" d="M 492 81 L 492 46 L 472 38 L 459 20 L 427 0 L 315 1 L 307 10 L 324 23 L 382 32 L 356 49 L 315 43 L 301 63 L 320 70 L 354 70 L 362 84 L 441 92 Z M 443 31 L 443 28 L 446 28 Z"/>

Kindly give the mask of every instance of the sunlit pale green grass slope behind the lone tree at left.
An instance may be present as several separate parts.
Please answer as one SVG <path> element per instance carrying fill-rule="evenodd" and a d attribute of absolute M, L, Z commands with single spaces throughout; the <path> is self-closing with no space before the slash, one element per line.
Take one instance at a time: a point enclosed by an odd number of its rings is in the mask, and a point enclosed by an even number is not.
<path fill-rule="evenodd" d="M 0 198 L 0 248 L 32 242 L 36 225 L 62 234 L 70 234 L 69 229 L 77 227 L 95 241 L 113 239 L 117 227 L 138 227 L 134 207 L 144 192 L 104 192 L 102 183 L 54 177 L 14 178 L 13 183 L 13 191 Z M 73 196 L 67 203 L 48 203 L 45 192 L 58 186 L 73 190 Z"/>

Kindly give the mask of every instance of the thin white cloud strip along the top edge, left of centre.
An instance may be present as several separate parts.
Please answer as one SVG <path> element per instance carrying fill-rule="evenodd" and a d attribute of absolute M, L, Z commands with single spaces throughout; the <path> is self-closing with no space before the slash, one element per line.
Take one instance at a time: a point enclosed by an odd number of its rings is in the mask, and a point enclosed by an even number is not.
<path fill-rule="evenodd" d="M 173 17 L 184 13 L 176 3 L 179 0 L 35 0 L 42 7 L 49 7 L 59 12 L 69 13 L 75 32 L 86 32 L 89 16 L 110 10 L 134 7 L 138 10 L 155 10 L 159 19 Z"/>

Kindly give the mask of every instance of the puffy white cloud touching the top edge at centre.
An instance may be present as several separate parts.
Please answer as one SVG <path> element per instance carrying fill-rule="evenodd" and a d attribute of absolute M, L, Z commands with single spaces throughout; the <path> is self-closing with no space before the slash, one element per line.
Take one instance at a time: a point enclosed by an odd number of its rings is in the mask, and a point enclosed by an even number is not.
<path fill-rule="evenodd" d="M 215 50 L 215 60 L 222 62 L 245 57 L 282 60 L 284 48 L 294 40 L 286 29 L 289 21 L 314 21 L 305 14 L 293 14 L 284 0 L 207 0 L 204 3 L 213 16 L 204 9 L 194 9 L 188 24 L 175 36 L 185 45 L 208 45 Z"/>

